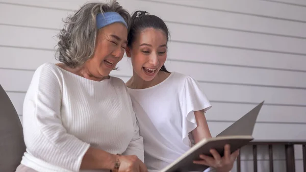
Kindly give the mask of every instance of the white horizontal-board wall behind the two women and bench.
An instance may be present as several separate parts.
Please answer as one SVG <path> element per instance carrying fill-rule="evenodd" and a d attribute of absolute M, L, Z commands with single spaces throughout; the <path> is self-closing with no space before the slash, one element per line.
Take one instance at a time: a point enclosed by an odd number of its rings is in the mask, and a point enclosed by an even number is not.
<path fill-rule="evenodd" d="M 23 97 L 34 70 L 54 60 L 62 18 L 78 1 L 0 0 L 0 84 L 22 117 Z M 134 12 L 164 19 L 171 32 L 166 67 L 197 79 L 212 102 L 207 118 L 218 134 L 258 103 L 265 105 L 253 132 L 256 140 L 306 138 L 306 3 L 303 0 L 121 0 Z M 112 75 L 132 75 L 123 58 Z M 285 171 L 285 152 L 274 148 L 274 171 Z M 242 150 L 242 171 L 252 171 L 251 148 Z M 268 171 L 260 146 L 259 171 Z M 296 146 L 296 171 L 302 171 Z M 236 167 L 234 167 L 234 171 Z"/>

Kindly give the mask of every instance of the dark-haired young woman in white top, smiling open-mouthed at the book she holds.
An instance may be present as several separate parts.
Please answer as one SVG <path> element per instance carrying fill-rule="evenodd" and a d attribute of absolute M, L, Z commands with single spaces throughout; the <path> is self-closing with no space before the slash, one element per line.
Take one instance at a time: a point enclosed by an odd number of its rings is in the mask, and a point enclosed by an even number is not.
<path fill-rule="evenodd" d="M 132 15 L 129 42 L 125 49 L 131 58 L 133 77 L 126 82 L 144 139 L 148 170 L 160 170 L 188 151 L 192 142 L 212 137 L 205 118 L 211 108 L 196 80 L 179 72 L 169 72 L 167 58 L 169 31 L 165 22 L 145 11 Z M 211 150 L 214 158 L 201 155 L 196 164 L 206 171 L 230 171 L 239 151 L 224 157 Z"/>

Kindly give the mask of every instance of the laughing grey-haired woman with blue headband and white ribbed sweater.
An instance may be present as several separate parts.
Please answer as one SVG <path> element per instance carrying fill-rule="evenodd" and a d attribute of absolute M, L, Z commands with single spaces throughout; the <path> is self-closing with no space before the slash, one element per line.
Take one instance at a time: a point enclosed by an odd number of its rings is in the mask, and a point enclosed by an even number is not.
<path fill-rule="evenodd" d="M 109 76 L 122 59 L 130 15 L 117 2 L 68 17 L 58 59 L 35 71 L 24 99 L 20 171 L 147 171 L 131 99 Z"/>

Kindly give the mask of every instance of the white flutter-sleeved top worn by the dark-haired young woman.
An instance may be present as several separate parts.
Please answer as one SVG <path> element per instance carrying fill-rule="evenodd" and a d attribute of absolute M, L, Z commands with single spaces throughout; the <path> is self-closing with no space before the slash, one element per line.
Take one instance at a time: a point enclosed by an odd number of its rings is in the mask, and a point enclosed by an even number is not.
<path fill-rule="evenodd" d="M 160 170 L 191 148 L 194 111 L 206 111 L 211 104 L 196 80 L 178 72 L 153 87 L 127 90 L 144 139 L 144 162 Z"/>

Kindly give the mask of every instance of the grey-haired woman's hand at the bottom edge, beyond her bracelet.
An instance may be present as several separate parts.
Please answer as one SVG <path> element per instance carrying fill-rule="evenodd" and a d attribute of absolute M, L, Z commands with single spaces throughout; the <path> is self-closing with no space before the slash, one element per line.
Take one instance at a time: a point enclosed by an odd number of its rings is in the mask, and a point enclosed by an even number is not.
<path fill-rule="evenodd" d="M 119 156 L 120 161 L 119 172 L 147 172 L 144 163 L 135 155 Z"/>

